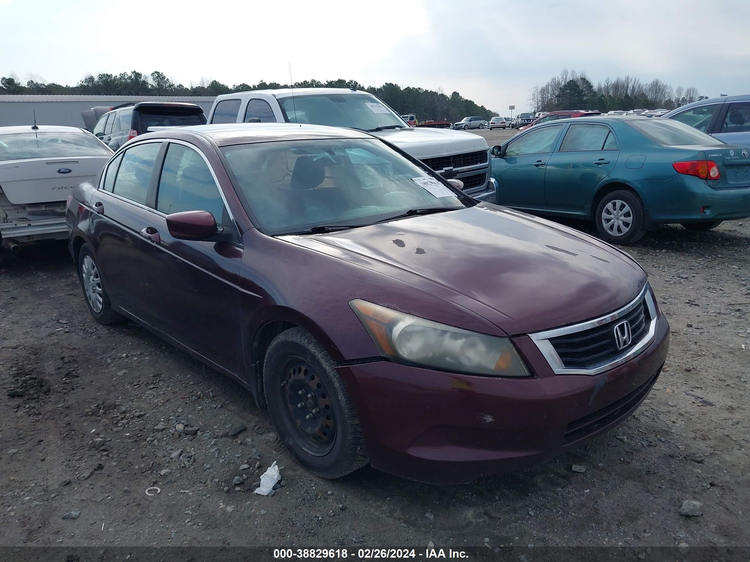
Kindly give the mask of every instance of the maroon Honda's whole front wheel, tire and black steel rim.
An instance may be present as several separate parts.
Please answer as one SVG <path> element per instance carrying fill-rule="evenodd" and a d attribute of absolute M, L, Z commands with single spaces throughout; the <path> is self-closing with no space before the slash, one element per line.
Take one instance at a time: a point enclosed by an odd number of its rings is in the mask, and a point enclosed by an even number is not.
<path fill-rule="evenodd" d="M 332 479 L 368 464 L 347 386 L 311 333 L 296 327 L 273 339 L 263 366 L 263 387 L 281 442 L 308 471 Z M 301 402 L 295 405 L 297 396 Z"/>

